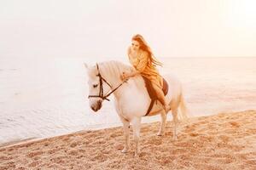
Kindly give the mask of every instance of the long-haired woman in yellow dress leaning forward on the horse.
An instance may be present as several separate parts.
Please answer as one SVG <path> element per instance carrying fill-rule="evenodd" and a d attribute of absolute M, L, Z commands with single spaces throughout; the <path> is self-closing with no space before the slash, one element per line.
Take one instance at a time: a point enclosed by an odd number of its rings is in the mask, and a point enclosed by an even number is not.
<path fill-rule="evenodd" d="M 152 86 L 157 94 L 157 98 L 164 106 L 165 111 L 170 110 L 170 106 L 166 103 L 165 94 L 162 91 L 163 78 L 160 77 L 159 72 L 156 69 L 156 65 L 162 65 L 151 52 L 147 42 L 143 36 L 137 34 L 131 39 L 131 46 L 128 48 L 128 56 L 131 65 L 136 71 L 125 72 L 122 79 L 125 80 L 129 77 L 135 77 L 137 74 L 148 78 L 152 82 Z"/>

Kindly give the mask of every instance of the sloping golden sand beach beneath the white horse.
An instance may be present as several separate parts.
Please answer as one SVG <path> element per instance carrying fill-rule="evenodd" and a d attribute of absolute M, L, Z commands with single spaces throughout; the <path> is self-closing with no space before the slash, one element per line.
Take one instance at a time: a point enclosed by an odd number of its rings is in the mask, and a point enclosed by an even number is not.
<path fill-rule="evenodd" d="M 143 124 L 141 154 L 122 154 L 121 127 L 72 133 L 0 148 L 0 169 L 256 169 L 256 111 L 219 113 L 180 123 L 172 141 Z"/>

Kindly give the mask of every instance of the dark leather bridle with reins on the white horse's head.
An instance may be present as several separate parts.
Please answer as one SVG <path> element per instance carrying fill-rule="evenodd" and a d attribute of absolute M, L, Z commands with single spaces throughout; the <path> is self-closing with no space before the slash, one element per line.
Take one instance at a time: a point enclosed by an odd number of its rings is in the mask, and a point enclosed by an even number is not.
<path fill-rule="evenodd" d="M 103 100 L 107 99 L 108 101 L 110 101 L 110 99 L 108 99 L 108 96 L 113 94 L 113 92 L 116 91 L 125 82 L 127 82 L 127 80 L 125 80 L 124 82 L 121 82 L 117 88 L 114 88 L 111 92 L 109 92 L 107 95 L 104 96 L 104 93 L 103 93 L 103 82 L 106 82 L 110 88 L 112 88 L 112 86 L 105 80 L 105 78 L 102 77 L 98 64 L 96 64 L 96 67 L 97 67 L 97 71 L 98 71 L 98 74 L 96 76 L 100 78 L 100 92 L 99 92 L 98 95 L 89 95 L 88 99 L 90 99 L 90 98 L 102 98 Z"/>

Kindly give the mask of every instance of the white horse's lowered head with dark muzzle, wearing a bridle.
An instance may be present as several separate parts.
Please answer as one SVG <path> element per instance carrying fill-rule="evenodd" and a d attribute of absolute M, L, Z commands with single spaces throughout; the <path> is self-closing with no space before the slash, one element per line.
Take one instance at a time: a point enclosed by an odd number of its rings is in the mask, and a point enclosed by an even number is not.
<path fill-rule="evenodd" d="M 84 66 L 88 75 L 89 105 L 91 110 L 99 111 L 102 108 L 103 100 L 108 97 L 111 85 L 102 77 L 102 72 L 98 65 L 88 66 L 84 64 Z"/>

